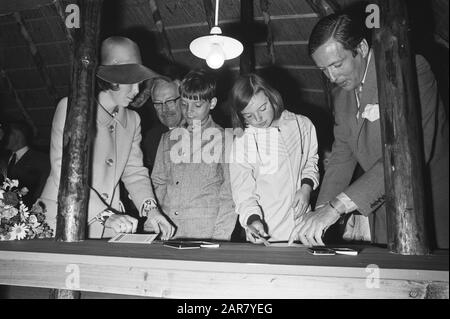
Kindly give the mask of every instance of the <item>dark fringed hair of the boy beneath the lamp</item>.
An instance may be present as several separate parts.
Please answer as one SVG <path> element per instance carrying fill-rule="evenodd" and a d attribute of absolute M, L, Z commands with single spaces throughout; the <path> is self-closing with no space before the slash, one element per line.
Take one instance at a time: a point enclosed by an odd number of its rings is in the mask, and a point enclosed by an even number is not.
<path fill-rule="evenodd" d="M 216 96 L 216 80 L 205 70 L 193 70 L 183 78 L 179 91 L 190 100 L 210 101 Z"/>

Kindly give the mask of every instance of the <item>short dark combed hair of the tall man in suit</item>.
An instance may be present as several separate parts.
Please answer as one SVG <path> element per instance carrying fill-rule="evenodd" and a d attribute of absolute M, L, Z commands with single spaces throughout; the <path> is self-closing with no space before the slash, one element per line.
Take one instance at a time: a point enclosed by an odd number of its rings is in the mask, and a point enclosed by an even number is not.
<path fill-rule="evenodd" d="M 360 19 L 348 14 L 330 14 L 322 18 L 314 27 L 309 37 L 308 53 L 310 56 L 329 39 L 342 44 L 345 50 L 356 56 L 358 45 L 366 39 L 370 47 L 370 32 Z"/>

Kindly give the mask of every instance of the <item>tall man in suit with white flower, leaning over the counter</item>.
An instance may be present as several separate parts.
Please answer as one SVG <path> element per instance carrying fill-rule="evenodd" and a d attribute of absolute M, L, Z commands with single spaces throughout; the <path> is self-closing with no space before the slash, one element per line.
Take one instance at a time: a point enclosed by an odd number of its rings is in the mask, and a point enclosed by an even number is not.
<path fill-rule="evenodd" d="M 333 91 L 335 141 L 316 210 L 304 216 L 291 235 L 307 245 L 323 245 L 323 232 L 343 214 L 358 210 L 374 243 L 387 242 L 384 168 L 375 56 L 365 27 L 347 15 L 319 21 L 309 41 L 309 53 Z M 427 213 L 432 214 L 438 248 L 448 248 L 448 119 L 427 61 L 416 56 L 420 94 L 425 177 L 431 188 Z M 351 182 L 356 164 L 364 173 Z M 364 222 L 364 219 L 362 219 Z"/>

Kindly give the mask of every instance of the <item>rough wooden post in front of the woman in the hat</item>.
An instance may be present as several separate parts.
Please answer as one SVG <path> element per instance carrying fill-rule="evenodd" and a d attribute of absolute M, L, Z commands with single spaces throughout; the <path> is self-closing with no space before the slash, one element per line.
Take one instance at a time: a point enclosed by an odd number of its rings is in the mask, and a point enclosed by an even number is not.
<path fill-rule="evenodd" d="M 102 0 L 81 0 L 80 29 L 74 33 L 74 61 L 64 127 L 56 240 L 85 238 L 94 125 L 95 71 Z"/>

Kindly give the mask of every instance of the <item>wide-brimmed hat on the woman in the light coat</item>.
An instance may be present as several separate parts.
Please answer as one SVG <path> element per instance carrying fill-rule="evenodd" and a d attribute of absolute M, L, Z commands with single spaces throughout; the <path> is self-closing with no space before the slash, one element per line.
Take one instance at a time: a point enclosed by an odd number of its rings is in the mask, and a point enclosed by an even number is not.
<path fill-rule="evenodd" d="M 97 76 L 110 83 L 133 84 L 160 75 L 142 65 L 136 43 L 124 37 L 109 37 L 102 42 Z"/>

